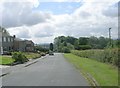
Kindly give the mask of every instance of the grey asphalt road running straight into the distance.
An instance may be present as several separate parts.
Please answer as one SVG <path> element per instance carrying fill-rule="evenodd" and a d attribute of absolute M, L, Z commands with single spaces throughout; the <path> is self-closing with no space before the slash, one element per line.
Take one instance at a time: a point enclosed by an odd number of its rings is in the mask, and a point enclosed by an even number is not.
<path fill-rule="evenodd" d="M 80 72 L 62 54 L 38 59 L 38 62 L 2 77 L 3 86 L 89 86 Z"/>

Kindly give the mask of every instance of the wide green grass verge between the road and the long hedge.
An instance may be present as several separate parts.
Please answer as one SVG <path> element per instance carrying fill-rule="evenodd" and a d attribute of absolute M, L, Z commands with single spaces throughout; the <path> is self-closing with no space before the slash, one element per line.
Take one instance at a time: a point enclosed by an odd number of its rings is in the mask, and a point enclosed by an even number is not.
<path fill-rule="evenodd" d="M 64 56 L 77 69 L 91 74 L 100 86 L 118 86 L 117 67 L 73 54 L 64 54 Z"/>

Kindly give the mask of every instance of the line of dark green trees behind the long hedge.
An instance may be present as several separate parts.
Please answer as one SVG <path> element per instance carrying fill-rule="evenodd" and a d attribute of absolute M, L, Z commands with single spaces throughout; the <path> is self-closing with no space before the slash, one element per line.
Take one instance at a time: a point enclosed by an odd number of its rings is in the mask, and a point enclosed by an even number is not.
<path fill-rule="evenodd" d="M 110 43 L 112 41 L 112 43 Z M 54 50 L 57 52 L 70 52 L 70 50 L 86 50 L 86 49 L 104 49 L 114 48 L 120 45 L 120 41 L 105 37 L 79 37 L 58 36 L 54 39 Z"/>

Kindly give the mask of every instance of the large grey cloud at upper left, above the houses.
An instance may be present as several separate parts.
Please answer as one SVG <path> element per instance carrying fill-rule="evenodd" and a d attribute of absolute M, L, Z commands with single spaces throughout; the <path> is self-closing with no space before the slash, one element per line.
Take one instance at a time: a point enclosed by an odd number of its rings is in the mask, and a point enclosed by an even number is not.
<path fill-rule="evenodd" d="M 28 2 L 6 2 L 3 6 L 2 25 L 4 27 L 31 26 L 51 18 L 49 13 L 33 12 L 33 7 Z"/>

